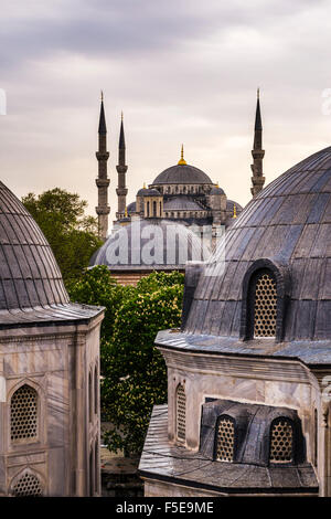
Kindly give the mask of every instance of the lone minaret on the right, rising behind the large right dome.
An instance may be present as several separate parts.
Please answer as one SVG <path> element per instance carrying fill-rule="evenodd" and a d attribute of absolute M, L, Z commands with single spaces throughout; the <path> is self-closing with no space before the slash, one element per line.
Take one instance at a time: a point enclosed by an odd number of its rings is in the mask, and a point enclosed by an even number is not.
<path fill-rule="evenodd" d="M 256 197 L 264 187 L 265 177 L 263 176 L 263 158 L 265 151 L 263 150 L 263 127 L 260 120 L 260 108 L 259 108 L 259 88 L 257 88 L 257 102 L 256 102 L 256 115 L 255 115 L 255 128 L 254 128 L 254 145 L 252 150 L 253 165 L 250 166 L 253 171 L 250 192 L 253 197 Z"/>

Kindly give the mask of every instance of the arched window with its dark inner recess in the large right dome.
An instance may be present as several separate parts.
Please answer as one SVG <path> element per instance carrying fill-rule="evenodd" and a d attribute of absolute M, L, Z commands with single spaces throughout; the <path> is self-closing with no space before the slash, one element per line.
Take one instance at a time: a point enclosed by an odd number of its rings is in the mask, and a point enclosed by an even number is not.
<path fill-rule="evenodd" d="M 276 337 L 277 284 L 273 273 L 261 269 L 250 279 L 250 338 Z"/>

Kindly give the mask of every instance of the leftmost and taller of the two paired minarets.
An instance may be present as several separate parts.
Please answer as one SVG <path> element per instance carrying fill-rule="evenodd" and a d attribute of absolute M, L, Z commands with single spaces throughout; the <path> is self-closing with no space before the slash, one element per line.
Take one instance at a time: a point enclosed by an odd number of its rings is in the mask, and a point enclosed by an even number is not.
<path fill-rule="evenodd" d="M 99 118 L 99 149 L 96 152 L 98 160 L 98 178 L 96 184 L 98 188 L 98 205 L 95 208 L 98 215 L 98 232 L 102 240 L 107 239 L 108 234 L 108 214 L 110 208 L 108 205 L 108 186 L 109 179 L 107 177 L 107 160 L 109 153 L 107 151 L 107 127 L 104 110 L 104 94 L 102 93 L 102 106 L 100 106 L 100 118 Z"/>

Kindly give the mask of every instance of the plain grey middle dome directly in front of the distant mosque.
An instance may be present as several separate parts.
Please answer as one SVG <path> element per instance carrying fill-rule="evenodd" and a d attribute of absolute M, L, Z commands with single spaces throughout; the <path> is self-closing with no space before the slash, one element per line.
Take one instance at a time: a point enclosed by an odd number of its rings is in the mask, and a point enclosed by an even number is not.
<path fill-rule="evenodd" d="M 153 241 L 149 254 L 146 251 Z M 184 268 L 186 261 L 200 261 L 201 247 L 201 240 L 182 224 L 164 219 L 137 220 L 116 229 L 92 257 L 89 266 L 107 265 L 110 271 L 173 271 Z"/>

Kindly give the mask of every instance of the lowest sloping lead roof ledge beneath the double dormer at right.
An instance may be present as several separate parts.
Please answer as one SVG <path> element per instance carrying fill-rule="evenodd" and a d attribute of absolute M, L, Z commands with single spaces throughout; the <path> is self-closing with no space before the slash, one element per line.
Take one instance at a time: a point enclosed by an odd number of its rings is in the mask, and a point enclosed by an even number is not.
<path fill-rule="evenodd" d="M 213 462 L 204 453 L 173 446 L 168 439 L 168 406 L 156 405 L 139 464 L 143 478 L 225 494 L 317 494 L 310 464 L 258 466 Z"/>

